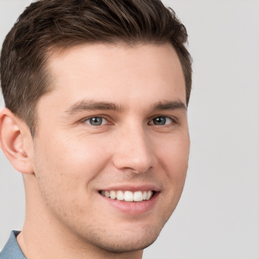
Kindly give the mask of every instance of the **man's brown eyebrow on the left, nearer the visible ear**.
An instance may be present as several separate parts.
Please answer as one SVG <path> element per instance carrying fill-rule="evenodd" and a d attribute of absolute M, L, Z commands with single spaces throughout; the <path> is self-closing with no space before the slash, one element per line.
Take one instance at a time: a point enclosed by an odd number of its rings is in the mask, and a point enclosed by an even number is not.
<path fill-rule="evenodd" d="M 124 107 L 110 102 L 97 102 L 94 100 L 81 100 L 71 105 L 65 113 L 74 114 L 85 110 L 112 110 L 122 112 Z"/>

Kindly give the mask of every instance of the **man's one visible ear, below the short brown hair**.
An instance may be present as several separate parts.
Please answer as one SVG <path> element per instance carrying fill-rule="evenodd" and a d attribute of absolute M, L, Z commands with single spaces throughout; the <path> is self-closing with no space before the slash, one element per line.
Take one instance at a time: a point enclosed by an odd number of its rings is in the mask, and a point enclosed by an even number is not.
<path fill-rule="evenodd" d="M 14 168 L 23 174 L 32 174 L 30 160 L 33 142 L 29 128 L 9 109 L 0 111 L 0 143 L 3 152 Z"/>

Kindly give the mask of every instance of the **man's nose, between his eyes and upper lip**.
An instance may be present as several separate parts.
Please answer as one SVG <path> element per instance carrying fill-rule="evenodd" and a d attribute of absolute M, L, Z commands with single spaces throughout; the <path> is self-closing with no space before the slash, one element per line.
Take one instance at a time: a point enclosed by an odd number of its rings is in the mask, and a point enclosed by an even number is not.
<path fill-rule="evenodd" d="M 143 127 L 130 127 L 117 136 L 113 163 L 119 170 L 137 174 L 148 171 L 156 164 L 152 143 Z"/>

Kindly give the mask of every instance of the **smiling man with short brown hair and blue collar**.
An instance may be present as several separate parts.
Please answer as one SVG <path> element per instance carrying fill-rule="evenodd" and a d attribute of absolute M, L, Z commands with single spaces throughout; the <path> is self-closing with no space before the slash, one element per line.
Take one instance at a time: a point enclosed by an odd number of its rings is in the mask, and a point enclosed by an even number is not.
<path fill-rule="evenodd" d="M 142 258 L 189 156 L 187 32 L 158 0 L 42 0 L 1 55 L 1 146 L 26 216 L 5 258 Z"/>

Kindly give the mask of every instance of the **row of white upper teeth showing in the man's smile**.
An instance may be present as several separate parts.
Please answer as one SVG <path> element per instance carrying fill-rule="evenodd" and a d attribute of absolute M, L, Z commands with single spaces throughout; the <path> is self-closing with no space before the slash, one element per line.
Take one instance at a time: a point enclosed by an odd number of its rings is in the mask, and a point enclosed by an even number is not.
<path fill-rule="evenodd" d="M 125 200 L 125 201 L 142 201 L 149 200 L 153 195 L 151 190 L 149 191 L 102 191 L 101 194 L 111 199 Z"/>

